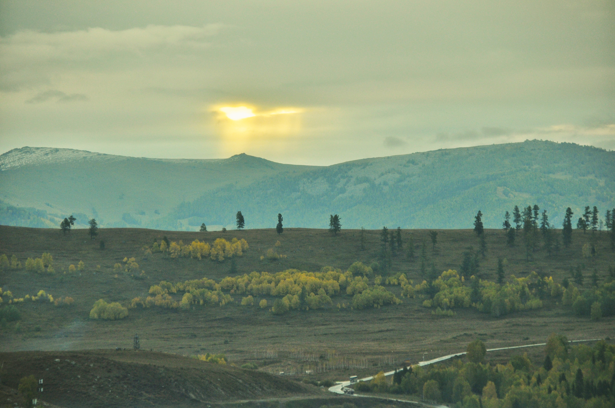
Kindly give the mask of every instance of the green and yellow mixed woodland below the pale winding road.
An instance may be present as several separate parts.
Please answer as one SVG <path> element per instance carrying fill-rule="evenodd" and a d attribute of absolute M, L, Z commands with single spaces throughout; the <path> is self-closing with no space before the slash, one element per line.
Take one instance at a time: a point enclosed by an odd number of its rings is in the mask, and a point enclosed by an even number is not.
<path fill-rule="evenodd" d="M 615 406 L 615 345 L 603 340 L 593 347 L 570 347 L 568 339 L 552 334 L 544 361 L 526 354 L 507 364 L 484 363 L 485 346 L 468 346 L 469 363 L 407 367 L 389 383 L 381 372 L 359 391 L 414 394 L 454 404 L 456 408 L 606 408 Z"/>

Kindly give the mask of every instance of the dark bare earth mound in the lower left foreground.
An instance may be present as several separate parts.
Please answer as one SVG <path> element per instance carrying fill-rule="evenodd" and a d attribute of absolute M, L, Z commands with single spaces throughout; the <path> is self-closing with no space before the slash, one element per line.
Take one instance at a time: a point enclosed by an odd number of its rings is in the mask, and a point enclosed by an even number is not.
<path fill-rule="evenodd" d="M 260 371 L 151 351 L 28 351 L 0 353 L 0 361 L 4 385 L 17 390 L 20 378 L 34 375 L 43 379 L 39 398 L 66 408 L 185 407 L 325 393 Z"/>

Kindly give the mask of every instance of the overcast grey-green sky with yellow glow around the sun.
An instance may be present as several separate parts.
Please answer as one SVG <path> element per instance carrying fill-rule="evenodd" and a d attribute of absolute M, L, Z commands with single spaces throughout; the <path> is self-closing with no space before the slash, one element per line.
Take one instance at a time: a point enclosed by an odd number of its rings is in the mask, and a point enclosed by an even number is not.
<path fill-rule="evenodd" d="M 0 0 L 0 153 L 615 149 L 614 22 L 612 0 Z"/>

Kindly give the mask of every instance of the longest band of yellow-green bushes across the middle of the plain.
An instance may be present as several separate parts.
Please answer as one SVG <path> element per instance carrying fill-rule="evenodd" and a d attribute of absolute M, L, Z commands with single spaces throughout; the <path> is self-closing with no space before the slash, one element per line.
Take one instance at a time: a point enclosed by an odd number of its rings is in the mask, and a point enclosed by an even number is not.
<path fill-rule="evenodd" d="M 353 271 L 359 276 L 353 276 Z M 161 281 L 149 288 L 151 296 L 145 299 L 136 297 L 130 307 L 167 307 L 189 309 L 195 305 L 223 306 L 234 301 L 231 295 L 245 295 L 241 304 L 254 305 L 254 297 L 276 297 L 271 312 L 282 314 L 288 310 L 319 309 L 333 305 L 331 297 L 346 294 L 351 296 L 349 306 L 362 309 L 365 307 L 381 307 L 387 304 L 399 304 L 401 301 L 376 284 L 370 286 L 367 275 L 371 269 L 361 262 L 355 262 L 346 271 L 323 267 L 320 272 L 305 272 L 298 269 L 288 269 L 284 272 L 252 272 L 240 277 L 226 277 L 220 282 L 203 278 L 185 282 L 169 283 Z M 365 274 L 365 275 L 363 275 Z M 361 276 L 363 275 L 363 276 Z M 225 293 L 228 292 L 228 293 Z M 173 298 L 173 294 L 181 294 L 181 300 Z M 266 299 L 259 303 L 261 308 L 267 307 Z M 339 305 L 339 304 L 338 304 Z M 339 307 L 346 307 L 346 303 Z"/>

